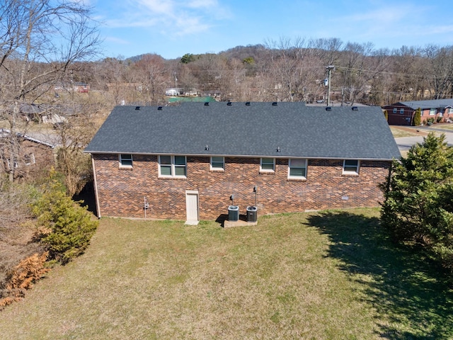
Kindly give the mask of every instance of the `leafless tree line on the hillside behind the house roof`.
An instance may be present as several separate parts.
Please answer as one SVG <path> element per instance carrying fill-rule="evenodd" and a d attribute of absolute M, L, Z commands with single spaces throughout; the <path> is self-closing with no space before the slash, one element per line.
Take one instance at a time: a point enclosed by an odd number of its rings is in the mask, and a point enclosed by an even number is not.
<path fill-rule="evenodd" d="M 453 46 L 375 50 L 338 38 L 285 39 L 165 60 L 156 54 L 79 64 L 93 89 L 115 103 L 162 104 L 168 88 L 197 89 L 221 101 L 322 101 L 327 68 L 331 98 L 343 105 L 452 98 Z"/>

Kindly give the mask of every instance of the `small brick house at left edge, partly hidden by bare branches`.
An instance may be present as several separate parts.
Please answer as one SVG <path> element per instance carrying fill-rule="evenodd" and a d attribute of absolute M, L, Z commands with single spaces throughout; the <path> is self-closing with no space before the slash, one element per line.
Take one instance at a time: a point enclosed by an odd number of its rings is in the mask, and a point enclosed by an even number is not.
<path fill-rule="evenodd" d="M 11 157 L 11 143 L 16 157 Z M 10 130 L 0 129 L 0 171 L 14 170 L 16 179 L 38 179 L 54 165 L 53 149 L 50 143 L 21 133 L 13 136 Z"/>

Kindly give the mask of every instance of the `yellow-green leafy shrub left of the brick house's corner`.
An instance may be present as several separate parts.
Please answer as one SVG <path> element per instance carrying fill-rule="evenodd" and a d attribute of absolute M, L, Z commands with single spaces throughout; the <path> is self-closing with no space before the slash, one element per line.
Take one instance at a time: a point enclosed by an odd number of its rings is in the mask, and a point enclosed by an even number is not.
<path fill-rule="evenodd" d="M 98 221 L 66 194 L 66 188 L 52 176 L 44 193 L 33 205 L 37 217 L 38 238 L 50 254 L 50 259 L 65 264 L 83 254 L 93 236 Z"/>

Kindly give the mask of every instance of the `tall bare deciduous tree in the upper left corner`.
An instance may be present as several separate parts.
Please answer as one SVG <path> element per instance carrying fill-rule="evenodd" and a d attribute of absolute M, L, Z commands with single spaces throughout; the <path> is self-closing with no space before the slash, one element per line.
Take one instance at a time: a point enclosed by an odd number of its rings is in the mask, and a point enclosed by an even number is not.
<path fill-rule="evenodd" d="M 84 1 L 0 0 L 0 114 L 9 122 L 11 160 L 25 104 L 42 104 L 76 61 L 96 55 L 100 40 Z M 14 179 L 14 166 L 8 178 Z"/>

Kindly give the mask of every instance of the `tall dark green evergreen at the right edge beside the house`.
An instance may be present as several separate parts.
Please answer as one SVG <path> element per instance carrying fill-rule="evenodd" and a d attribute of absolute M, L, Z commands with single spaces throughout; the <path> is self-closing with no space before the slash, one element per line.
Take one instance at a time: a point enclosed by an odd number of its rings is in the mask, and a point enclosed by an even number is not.
<path fill-rule="evenodd" d="M 453 271 L 453 147 L 430 133 L 394 161 L 382 223 L 398 242 L 418 244 Z"/>

